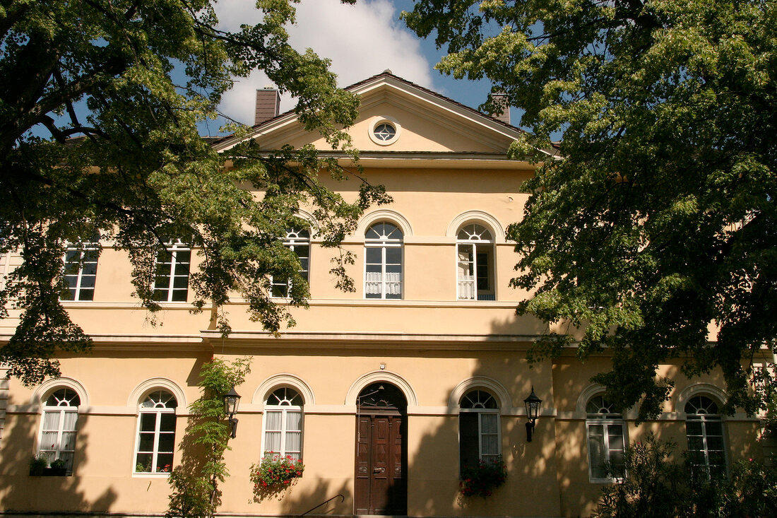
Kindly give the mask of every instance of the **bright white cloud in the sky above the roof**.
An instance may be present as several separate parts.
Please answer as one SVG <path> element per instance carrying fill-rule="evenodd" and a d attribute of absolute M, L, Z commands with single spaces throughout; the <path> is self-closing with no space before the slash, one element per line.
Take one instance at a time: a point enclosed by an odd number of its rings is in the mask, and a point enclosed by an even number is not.
<path fill-rule="evenodd" d="M 391 0 L 362 0 L 343 5 L 340 0 L 302 0 L 296 4 L 297 23 L 287 27 L 289 43 L 298 51 L 312 48 L 332 60 L 330 69 L 339 86 L 349 86 L 389 68 L 395 75 L 432 87 L 432 66 L 423 57 L 420 41 L 398 20 Z M 220 0 L 216 4 L 221 26 L 237 30 L 242 23 L 259 23 L 260 13 L 250 0 Z M 221 110 L 229 117 L 253 124 L 256 89 L 269 84 L 267 75 L 253 72 L 228 93 Z M 294 100 L 284 96 L 280 110 L 291 110 Z"/>

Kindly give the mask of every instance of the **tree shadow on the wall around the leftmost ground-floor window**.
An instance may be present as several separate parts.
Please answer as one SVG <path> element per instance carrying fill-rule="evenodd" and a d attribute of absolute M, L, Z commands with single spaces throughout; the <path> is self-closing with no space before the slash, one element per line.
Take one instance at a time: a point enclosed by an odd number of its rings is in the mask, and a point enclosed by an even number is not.
<path fill-rule="evenodd" d="M 9 398 L 9 405 L 18 404 Z M 30 509 L 49 513 L 61 509 L 89 513 L 107 513 L 117 500 L 113 488 L 105 488 L 102 494 L 87 496 L 78 477 L 79 467 L 86 460 L 89 435 L 88 415 L 78 416 L 78 434 L 75 442 L 73 475 L 66 477 L 30 476 L 30 459 L 36 453 L 40 413 L 6 414 L 5 429 L 0 450 L 0 506 L 5 513 Z M 106 459 L 107 460 L 107 459 Z"/>

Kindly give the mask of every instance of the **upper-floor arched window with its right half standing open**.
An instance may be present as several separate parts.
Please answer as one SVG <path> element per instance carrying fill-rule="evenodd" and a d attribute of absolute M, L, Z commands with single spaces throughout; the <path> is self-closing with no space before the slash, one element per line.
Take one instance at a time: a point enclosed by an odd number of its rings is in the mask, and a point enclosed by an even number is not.
<path fill-rule="evenodd" d="M 462 226 L 456 236 L 459 300 L 496 300 L 493 235 L 483 225 Z"/>

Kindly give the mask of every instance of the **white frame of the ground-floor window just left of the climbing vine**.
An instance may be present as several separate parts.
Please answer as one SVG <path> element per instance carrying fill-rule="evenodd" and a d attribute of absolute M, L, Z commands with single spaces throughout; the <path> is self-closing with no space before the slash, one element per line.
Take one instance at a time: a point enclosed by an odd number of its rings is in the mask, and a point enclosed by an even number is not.
<path fill-rule="evenodd" d="M 155 399 L 156 397 L 156 399 Z M 144 406 L 144 403 L 146 401 L 152 401 L 154 403 L 154 406 Z M 175 395 L 170 393 L 166 389 L 154 389 L 148 393 L 146 393 L 145 397 L 143 397 L 138 404 L 138 424 L 135 428 L 135 447 L 134 447 L 134 455 L 132 457 L 132 474 L 133 476 L 145 476 L 145 477 L 169 477 L 170 471 L 172 471 L 172 462 L 175 458 L 175 444 L 176 444 L 176 429 L 178 428 L 178 422 L 176 418 L 176 408 L 178 406 L 178 400 L 176 400 Z M 170 434 L 171 432 L 168 431 L 162 431 L 162 415 L 173 415 L 174 425 L 172 429 L 172 451 L 165 451 L 160 452 L 159 451 L 159 438 L 162 436 L 162 434 Z M 151 451 L 140 451 L 141 446 L 141 422 L 143 420 L 144 415 L 154 415 L 154 431 L 151 432 L 154 435 L 154 440 L 152 443 L 152 450 Z M 149 432 L 144 431 L 143 433 L 148 434 Z M 151 469 L 152 471 L 138 471 L 138 455 L 148 455 L 151 454 L 152 456 L 152 462 L 151 462 Z M 169 470 L 168 471 L 154 471 L 154 468 L 159 464 L 159 455 L 171 455 L 171 460 L 169 464 Z M 163 466 L 164 468 L 164 466 Z"/>

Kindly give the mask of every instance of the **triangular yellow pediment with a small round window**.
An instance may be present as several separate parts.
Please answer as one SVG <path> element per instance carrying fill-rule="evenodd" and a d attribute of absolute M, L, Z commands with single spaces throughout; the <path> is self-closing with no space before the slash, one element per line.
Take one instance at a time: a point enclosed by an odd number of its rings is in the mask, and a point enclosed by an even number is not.
<path fill-rule="evenodd" d="M 359 115 L 348 129 L 354 147 L 361 152 L 503 155 L 523 133 L 389 72 L 347 90 L 361 99 Z M 387 124 L 395 135 L 382 140 L 386 135 L 377 135 L 381 124 Z M 332 150 L 321 135 L 305 131 L 293 112 L 257 125 L 244 138 L 225 138 L 214 147 L 222 151 L 246 138 L 255 138 L 268 150 L 287 144 L 294 148 L 312 144 L 322 151 Z"/>

